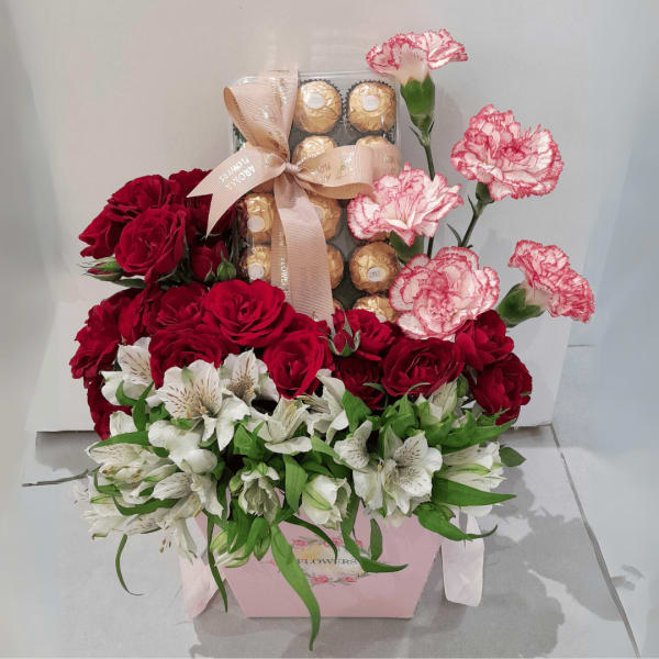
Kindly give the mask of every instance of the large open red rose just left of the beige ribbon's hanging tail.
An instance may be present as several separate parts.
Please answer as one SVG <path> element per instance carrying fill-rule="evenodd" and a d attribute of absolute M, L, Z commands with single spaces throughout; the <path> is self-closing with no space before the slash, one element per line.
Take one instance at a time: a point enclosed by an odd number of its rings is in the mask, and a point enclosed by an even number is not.
<path fill-rule="evenodd" d="M 211 288 L 203 302 L 205 317 L 232 343 L 264 347 L 278 340 L 293 320 L 283 291 L 265 281 L 231 279 Z"/>

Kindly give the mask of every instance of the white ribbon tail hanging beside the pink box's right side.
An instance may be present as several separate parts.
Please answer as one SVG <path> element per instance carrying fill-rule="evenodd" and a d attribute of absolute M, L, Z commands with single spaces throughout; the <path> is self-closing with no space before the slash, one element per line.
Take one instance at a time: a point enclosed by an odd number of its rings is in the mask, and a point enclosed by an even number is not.
<path fill-rule="evenodd" d="M 479 534 L 478 522 L 467 515 L 466 533 Z M 484 543 L 482 538 L 470 541 L 442 541 L 444 592 L 449 602 L 478 606 L 483 593 Z"/>

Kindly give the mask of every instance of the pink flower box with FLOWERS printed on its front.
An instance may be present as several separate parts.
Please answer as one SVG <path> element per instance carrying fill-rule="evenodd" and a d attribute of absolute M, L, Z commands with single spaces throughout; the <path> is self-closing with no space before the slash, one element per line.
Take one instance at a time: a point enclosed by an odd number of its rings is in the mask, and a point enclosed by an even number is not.
<path fill-rule="evenodd" d="M 423 528 L 415 518 L 399 527 L 380 523 L 382 556 L 379 561 L 407 567 L 398 572 L 366 574 L 345 550 L 340 533 L 325 529 L 338 548 L 338 559 L 323 540 L 293 524 L 282 524 L 300 567 L 306 573 L 324 617 L 410 618 L 442 546 L 442 538 Z M 355 524 L 357 543 L 368 548 L 370 525 L 359 512 Z M 247 617 L 306 617 L 306 607 L 279 572 L 271 554 L 254 557 L 239 568 L 222 570 Z"/>

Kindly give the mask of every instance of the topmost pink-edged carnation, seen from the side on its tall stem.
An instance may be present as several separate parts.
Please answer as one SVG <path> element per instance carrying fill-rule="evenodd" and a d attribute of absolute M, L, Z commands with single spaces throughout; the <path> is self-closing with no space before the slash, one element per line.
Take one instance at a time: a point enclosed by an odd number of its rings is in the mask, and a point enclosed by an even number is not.
<path fill-rule="evenodd" d="M 446 30 L 396 34 L 382 45 L 373 46 L 366 55 L 368 66 L 378 74 L 395 76 L 401 85 L 410 78 L 423 80 L 428 69 L 466 59 L 465 46 Z"/>

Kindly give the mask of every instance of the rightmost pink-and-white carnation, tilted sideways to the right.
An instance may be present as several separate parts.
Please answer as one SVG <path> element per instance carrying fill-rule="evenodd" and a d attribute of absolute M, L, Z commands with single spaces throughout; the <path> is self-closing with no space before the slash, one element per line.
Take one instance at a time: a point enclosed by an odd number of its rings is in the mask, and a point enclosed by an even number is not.
<path fill-rule="evenodd" d="M 570 268 L 568 256 L 556 245 L 520 241 L 509 266 L 524 272 L 522 286 L 528 304 L 583 323 L 594 313 L 595 299 L 588 281 Z"/>

